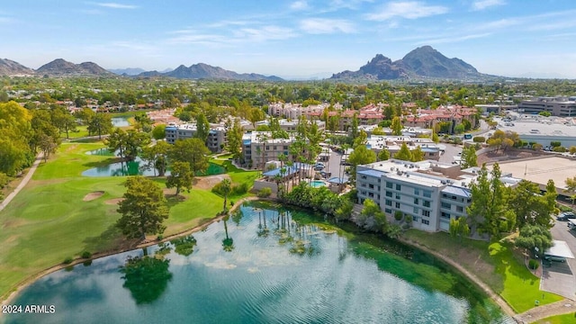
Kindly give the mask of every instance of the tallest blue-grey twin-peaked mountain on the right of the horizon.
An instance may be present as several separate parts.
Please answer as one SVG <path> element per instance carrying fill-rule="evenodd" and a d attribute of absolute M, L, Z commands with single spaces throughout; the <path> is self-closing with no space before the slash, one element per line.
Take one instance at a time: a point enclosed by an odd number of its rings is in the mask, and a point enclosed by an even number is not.
<path fill-rule="evenodd" d="M 340 72 L 330 78 L 394 80 L 401 78 L 470 79 L 482 76 L 482 73 L 462 59 L 446 58 L 436 49 L 423 46 L 393 62 L 392 59 L 377 54 L 359 70 Z"/>

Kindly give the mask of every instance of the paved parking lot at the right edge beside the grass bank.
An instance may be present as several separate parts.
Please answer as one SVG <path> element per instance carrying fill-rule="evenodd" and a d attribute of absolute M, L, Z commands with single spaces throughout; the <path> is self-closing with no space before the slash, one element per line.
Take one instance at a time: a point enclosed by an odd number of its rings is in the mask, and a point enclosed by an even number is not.
<path fill-rule="evenodd" d="M 571 230 L 567 221 L 556 220 L 551 229 L 552 237 L 563 240 L 568 244 L 572 254 L 576 256 L 576 229 Z M 551 266 L 544 266 L 540 289 L 545 292 L 562 295 L 572 301 L 576 300 L 576 259 L 566 259 L 566 262 L 551 262 Z"/>

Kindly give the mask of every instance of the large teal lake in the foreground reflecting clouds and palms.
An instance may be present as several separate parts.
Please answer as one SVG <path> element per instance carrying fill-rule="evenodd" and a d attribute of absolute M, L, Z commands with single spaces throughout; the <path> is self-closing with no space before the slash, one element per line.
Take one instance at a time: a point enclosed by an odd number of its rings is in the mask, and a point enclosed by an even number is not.
<path fill-rule="evenodd" d="M 302 211 L 244 205 L 169 243 L 46 275 L 7 323 L 463 323 L 500 312 L 417 250 L 336 230 Z M 385 249 L 397 251 L 397 254 Z M 500 322 L 500 320 L 498 320 Z"/>

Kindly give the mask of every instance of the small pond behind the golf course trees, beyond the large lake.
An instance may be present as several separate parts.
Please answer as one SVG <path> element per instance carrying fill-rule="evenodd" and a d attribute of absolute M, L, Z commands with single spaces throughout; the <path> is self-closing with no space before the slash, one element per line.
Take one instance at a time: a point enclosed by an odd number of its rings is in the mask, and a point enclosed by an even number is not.
<path fill-rule="evenodd" d="M 88 155 L 97 155 L 104 157 L 114 157 L 118 154 L 114 154 L 108 150 L 108 148 L 98 148 L 86 152 Z M 219 166 L 214 163 L 208 165 L 208 169 L 203 174 L 198 175 L 221 175 L 226 173 L 226 168 Z M 105 166 L 93 167 L 82 172 L 84 176 L 123 176 L 123 175 L 145 175 L 145 176 L 155 176 L 157 175 L 157 169 L 144 166 L 142 159 L 136 157 L 134 161 L 130 162 L 114 162 Z M 170 170 L 166 171 L 166 175 L 170 175 Z"/>

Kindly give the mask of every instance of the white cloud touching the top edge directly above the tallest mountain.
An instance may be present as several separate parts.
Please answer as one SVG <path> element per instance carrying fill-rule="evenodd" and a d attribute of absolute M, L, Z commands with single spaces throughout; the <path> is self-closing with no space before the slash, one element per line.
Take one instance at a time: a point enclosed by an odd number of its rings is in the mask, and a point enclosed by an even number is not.
<path fill-rule="evenodd" d="M 441 5 L 427 5 L 419 1 L 392 2 L 374 14 L 366 14 L 366 18 L 374 21 L 385 21 L 394 17 L 417 19 L 447 12 L 448 8 Z"/>

